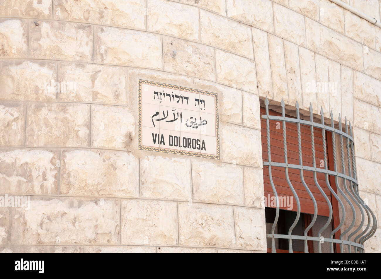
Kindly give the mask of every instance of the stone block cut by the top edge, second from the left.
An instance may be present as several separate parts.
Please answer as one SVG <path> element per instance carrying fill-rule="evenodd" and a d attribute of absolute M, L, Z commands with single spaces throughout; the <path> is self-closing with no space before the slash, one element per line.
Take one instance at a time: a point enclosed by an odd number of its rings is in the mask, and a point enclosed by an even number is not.
<path fill-rule="evenodd" d="M 54 0 L 54 18 L 145 29 L 144 0 Z"/>

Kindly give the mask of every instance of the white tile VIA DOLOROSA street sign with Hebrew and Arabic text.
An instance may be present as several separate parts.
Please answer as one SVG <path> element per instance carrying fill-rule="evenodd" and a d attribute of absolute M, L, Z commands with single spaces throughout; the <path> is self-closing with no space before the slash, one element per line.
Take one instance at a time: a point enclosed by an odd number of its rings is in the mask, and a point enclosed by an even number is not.
<path fill-rule="evenodd" d="M 138 148 L 219 159 L 216 93 L 138 80 Z"/>

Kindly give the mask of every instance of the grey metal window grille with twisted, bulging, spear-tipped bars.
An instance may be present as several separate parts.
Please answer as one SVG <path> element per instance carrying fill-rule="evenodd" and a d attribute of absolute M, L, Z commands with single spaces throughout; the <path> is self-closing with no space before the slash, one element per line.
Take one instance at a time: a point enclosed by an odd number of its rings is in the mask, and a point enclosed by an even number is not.
<path fill-rule="evenodd" d="M 330 251 L 331 253 L 334 252 L 333 244 L 339 244 L 340 251 L 343 252 L 343 245 L 348 246 L 348 251 L 351 253 L 354 251 L 357 252 L 364 252 L 364 242 L 371 238 L 373 234 L 376 232 L 377 229 L 377 221 L 375 214 L 370 210 L 368 205 L 360 198 L 359 195 L 359 183 L 357 182 L 357 174 L 356 174 L 356 162 L 355 162 L 355 151 L 354 151 L 354 141 L 353 141 L 353 133 L 352 133 L 352 125 L 349 123 L 349 132 L 348 132 L 348 125 L 347 125 L 347 119 L 345 119 L 345 132 L 342 129 L 341 125 L 341 118 L 339 115 L 339 129 L 336 129 L 334 126 L 333 121 L 333 113 L 331 110 L 331 119 L 330 119 L 330 126 L 325 125 L 324 122 L 324 112 L 323 108 L 320 111 L 321 114 L 321 123 L 315 123 L 312 118 L 312 105 L 310 104 L 309 107 L 309 121 L 300 119 L 299 115 L 299 104 L 296 102 L 296 118 L 286 117 L 285 116 L 285 103 L 282 99 L 281 105 L 282 105 L 282 116 L 274 116 L 269 115 L 269 100 L 266 97 L 265 100 L 266 105 L 266 115 L 262 115 L 261 117 L 266 120 L 266 129 L 267 129 L 267 154 L 268 154 L 268 161 L 263 162 L 264 166 L 268 166 L 269 170 L 269 178 L 271 183 L 272 191 L 274 192 L 275 200 L 276 200 L 276 214 L 275 214 L 275 220 L 271 228 L 271 233 L 267 234 L 267 238 L 271 239 L 271 252 L 276 253 L 275 249 L 275 239 L 288 239 L 288 250 L 290 253 L 293 253 L 292 248 L 292 239 L 301 239 L 304 240 L 304 252 L 308 253 L 308 247 L 307 247 L 307 241 L 316 241 L 318 243 L 318 252 L 322 252 L 321 248 L 321 235 L 322 232 L 327 228 L 327 226 L 331 223 L 333 210 L 331 206 L 331 201 L 329 200 L 328 196 L 325 194 L 325 192 L 322 190 L 322 187 L 320 187 L 317 179 L 316 174 L 317 172 L 325 174 L 325 182 L 327 183 L 327 187 L 329 188 L 331 192 L 332 199 L 335 198 L 338 201 L 339 206 L 341 207 L 341 220 L 340 223 L 334 228 L 330 233 L 330 238 L 324 238 L 325 242 L 330 242 Z M 270 139 L 270 127 L 269 127 L 269 121 L 270 120 L 278 120 L 283 123 L 283 147 L 284 147 L 284 162 L 274 162 L 271 161 L 271 139 Z M 298 153 L 299 153 L 299 164 L 289 164 L 287 160 L 287 141 L 286 141 L 286 123 L 296 123 L 298 128 Z M 302 149 L 301 149 L 301 125 L 307 125 L 311 128 L 311 148 L 312 148 L 312 160 L 313 160 L 313 166 L 305 166 L 303 165 L 303 158 L 302 158 Z M 322 129 L 322 138 L 323 138 L 323 153 L 324 153 L 324 168 L 318 168 L 316 167 L 315 162 L 315 143 L 314 143 L 314 127 Z M 334 165 L 334 171 L 328 170 L 327 166 L 327 150 L 326 150 L 326 138 L 325 138 L 325 132 L 331 132 L 332 134 L 332 145 L 333 145 L 333 165 Z M 341 151 L 341 158 L 339 160 L 341 161 L 341 172 L 338 171 L 337 166 L 337 159 L 336 158 L 336 134 L 338 135 L 340 142 L 340 151 Z M 345 139 L 345 140 L 344 140 Z M 344 141 L 346 142 L 346 151 L 347 151 L 347 167 L 345 166 L 344 161 Z M 287 180 L 288 187 L 290 187 L 291 192 L 294 195 L 296 204 L 297 204 L 297 214 L 295 221 L 291 224 L 288 234 L 275 234 L 275 226 L 278 222 L 279 218 L 279 199 L 277 195 L 277 190 L 274 185 L 272 175 L 271 175 L 271 167 L 284 167 L 285 169 L 285 179 Z M 312 217 L 311 223 L 307 228 L 304 230 L 304 235 L 293 235 L 293 229 L 295 228 L 296 224 L 299 221 L 300 213 L 301 213 L 301 205 L 299 202 L 298 195 L 290 181 L 290 178 L 288 176 L 288 169 L 298 169 L 300 171 L 300 177 L 301 182 L 303 183 L 304 188 L 306 189 L 308 195 L 311 197 L 311 202 L 314 206 L 314 215 Z M 347 168 L 347 174 L 346 174 L 346 168 Z M 307 184 L 304 182 L 303 178 L 303 171 L 312 171 L 314 174 L 314 182 L 316 187 L 319 189 L 320 193 L 324 196 L 325 201 L 328 203 L 329 207 L 329 216 L 328 220 L 323 225 L 322 228 L 320 228 L 319 232 L 317 233 L 317 236 L 307 236 L 308 231 L 312 228 L 314 225 L 316 218 L 317 218 L 317 202 L 314 198 L 314 195 L 312 194 L 311 190 L 308 188 Z M 349 227 L 344 230 L 338 239 L 334 238 L 335 233 L 340 230 L 343 227 L 344 219 L 346 216 L 346 209 L 344 208 L 344 204 L 342 199 L 338 196 L 338 194 L 333 190 L 333 188 L 330 185 L 330 180 L 328 179 L 328 176 L 333 176 L 335 178 L 335 182 L 337 185 L 337 190 L 340 193 L 340 196 L 345 199 L 345 201 L 349 204 L 351 211 L 352 211 L 352 222 L 349 225 Z M 343 180 L 343 188 L 339 187 L 338 180 Z M 356 228 L 354 231 L 349 233 L 352 228 L 355 227 L 355 221 L 356 221 L 356 210 L 355 207 L 359 209 L 360 215 L 361 215 L 361 222 L 358 228 Z M 347 208 L 348 210 L 348 208 Z M 365 215 L 367 216 L 367 226 L 364 230 L 362 230 L 364 222 L 365 222 Z M 371 222 L 373 221 L 373 222 Z M 372 223 L 372 226 L 371 226 Z M 352 250 L 352 247 L 354 248 Z"/>

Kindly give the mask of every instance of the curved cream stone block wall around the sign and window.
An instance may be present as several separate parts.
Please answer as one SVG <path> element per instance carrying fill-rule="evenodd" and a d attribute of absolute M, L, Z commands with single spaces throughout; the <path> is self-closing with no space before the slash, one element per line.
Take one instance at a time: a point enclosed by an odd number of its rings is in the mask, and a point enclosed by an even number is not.
<path fill-rule="evenodd" d="M 217 92 L 221 159 L 138 150 L 138 78 Z M 381 29 L 328 0 L 0 0 L 0 195 L 31 196 L 0 251 L 266 252 L 265 96 L 347 116 L 381 220 L 380 87 Z"/>

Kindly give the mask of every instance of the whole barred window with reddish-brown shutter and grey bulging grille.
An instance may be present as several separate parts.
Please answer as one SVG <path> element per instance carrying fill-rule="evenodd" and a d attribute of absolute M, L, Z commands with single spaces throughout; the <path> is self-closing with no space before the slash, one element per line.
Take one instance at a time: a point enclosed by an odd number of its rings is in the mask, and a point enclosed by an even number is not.
<path fill-rule="evenodd" d="M 352 127 L 335 128 L 332 113 L 326 124 L 322 111 L 320 122 L 314 121 L 311 106 L 306 119 L 298 104 L 290 112 L 296 117 L 286 115 L 283 100 L 281 105 L 272 110 L 266 98 L 261 107 L 269 250 L 340 252 L 346 245 L 348 252 L 362 252 L 377 222 L 358 193 Z M 356 212 L 361 224 L 368 222 L 365 230 L 355 226 Z"/>

